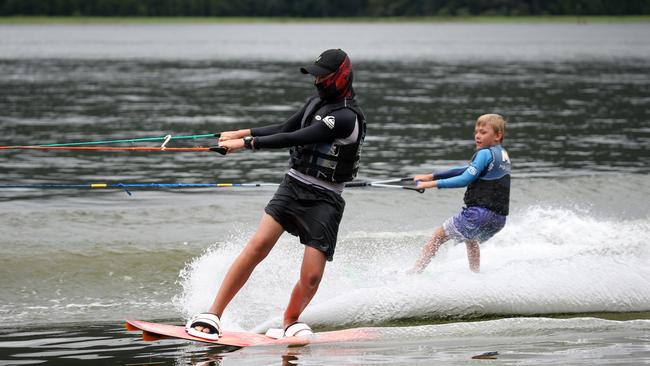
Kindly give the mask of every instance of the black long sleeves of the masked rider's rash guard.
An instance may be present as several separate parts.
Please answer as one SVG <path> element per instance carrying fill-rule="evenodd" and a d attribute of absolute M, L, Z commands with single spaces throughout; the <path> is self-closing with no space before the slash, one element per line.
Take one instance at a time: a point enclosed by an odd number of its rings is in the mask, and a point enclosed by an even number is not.
<path fill-rule="evenodd" d="M 326 124 L 320 120 L 301 128 L 305 108 L 306 106 L 303 106 L 284 123 L 252 128 L 251 135 L 254 137 L 255 149 L 330 143 L 336 139 L 344 139 L 354 131 L 357 115 L 348 108 L 331 112 L 330 116 L 334 117 L 333 124 Z"/>

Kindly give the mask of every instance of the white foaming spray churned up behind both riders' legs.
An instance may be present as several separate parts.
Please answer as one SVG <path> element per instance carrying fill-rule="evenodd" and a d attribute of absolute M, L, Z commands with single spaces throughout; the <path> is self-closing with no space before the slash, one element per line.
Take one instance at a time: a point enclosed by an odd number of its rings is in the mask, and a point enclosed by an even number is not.
<path fill-rule="evenodd" d="M 650 310 L 648 218 L 599 219 L 579 209 L 530 207 L 481 246 L 481 273 L 464 245 L 446 244 L 421 275 L 405 271 L 428 234 L 343 235 L 303 320 L 314 326 L 385 324 L 404 318 Z M 241 239 L 241 240 L 240 240 Z M 204 311 L 245 242 L 213 247 L 184 271 L 179 305 Z M 224 317 L 248 328 L 279 322 L 302 246 L 284 236 Z M 259 327 L 258 327 L 259 328 Z"/>

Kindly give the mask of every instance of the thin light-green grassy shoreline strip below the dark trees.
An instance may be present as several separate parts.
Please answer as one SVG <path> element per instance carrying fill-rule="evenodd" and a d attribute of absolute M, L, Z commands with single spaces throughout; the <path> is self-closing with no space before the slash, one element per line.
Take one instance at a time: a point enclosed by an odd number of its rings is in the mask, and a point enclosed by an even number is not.
<path fill-rule="evenodd" d="M 458 16 L 458 17 L 47 17 L 4 16 L 0 24 L 242 24 L 242 23 L 650 23 L 650 16 Z"/>

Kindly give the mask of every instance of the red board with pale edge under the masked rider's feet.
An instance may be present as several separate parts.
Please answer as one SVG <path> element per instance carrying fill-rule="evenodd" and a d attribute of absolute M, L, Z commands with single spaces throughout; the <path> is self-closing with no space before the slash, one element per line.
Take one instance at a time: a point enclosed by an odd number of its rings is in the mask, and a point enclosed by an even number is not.
<path fill-rule="evenodd" d="M 142 339 L 145 341 L 155 341 L 164 338 L 176 338 L 235 347 L 271 345 L 300 346 L 314 343 L 371 340 L 376 337 L 376 334 L 372 328 L 343 329 L 331 332 L 314 333 L 310 336 L 286 337 L 280 339 L 267 337 L 263 334 L 257 333 L 224 331 L 219 340 L 212 341 L 209 339 L 203 339 L 187 334 L 185 327 L 183 326 L 150 323 L 142 320 L 131 319 L 126 320 L 126 329 L 132 331 L 142 331 Z"/>

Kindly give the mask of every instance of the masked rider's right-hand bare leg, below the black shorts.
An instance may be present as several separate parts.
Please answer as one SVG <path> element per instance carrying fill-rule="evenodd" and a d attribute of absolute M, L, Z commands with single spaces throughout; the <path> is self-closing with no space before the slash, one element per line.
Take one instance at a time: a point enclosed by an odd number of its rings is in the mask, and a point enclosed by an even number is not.
<path fill-rule="evenodd" d="M 305 254 L 300 267 L 300 279 L 291 292 L 287 309 L 284 311 L 284 328 L 298 321 L 318 290 L 325 271 L 325 254 L 318 249 L 305 246 Z"/>

